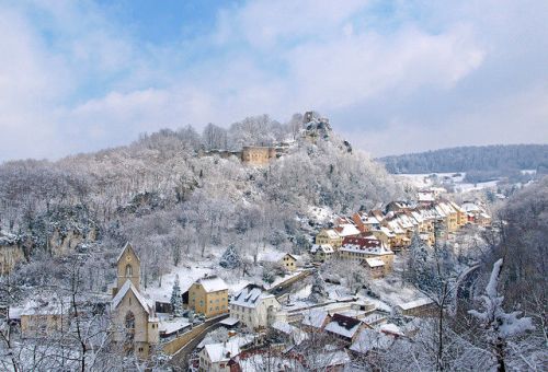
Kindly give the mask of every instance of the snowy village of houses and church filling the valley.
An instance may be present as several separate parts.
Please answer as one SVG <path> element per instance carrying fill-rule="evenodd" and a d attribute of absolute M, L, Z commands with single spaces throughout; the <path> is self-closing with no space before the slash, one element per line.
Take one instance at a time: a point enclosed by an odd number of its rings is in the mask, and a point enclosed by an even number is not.
<path fill-rule="evenodd" d="M 273 280 L 229 284 L 210 266 L 196 266 L 172 276 L 161 291 L 142 288 L 140 258 L 128 242 L 115 263 L 114 286 L 107 293 L 88 293 L 85 301 L 105 309 L 112 341 L 144 362 L 162 354 L 172 367 L 199 371 L 259 371 L 264 363 L 277 371 L 296 365 L 338 371 L 418 332 L 414 319 L 435 311 L 431 299 L 409 288 L 387 298 L 370 289 L 401 276 L 396 263 L 401 266 L 412 244 L 443 245 L 469 226 L 490 229 L 483 206 L 459 206 L 426 188 L 415 200 L 333 217 L 307 254 L 265 252 L 259 265 L 270 265 Z M 22 255 L 2 253 L 2 271 Z M 230 265 L 238 260 L 230 248 L 224 256 Z M 351 271 L 358 267 L 365 279 L 342 283 L 327 275 L 326 267 L 335 263 Z M 39 298 L 4 309 L 4 315 L 21 338 L 37 338 L 72 329 L 75 317 L 82 316 L 75 309 L 70 299 Z"/>

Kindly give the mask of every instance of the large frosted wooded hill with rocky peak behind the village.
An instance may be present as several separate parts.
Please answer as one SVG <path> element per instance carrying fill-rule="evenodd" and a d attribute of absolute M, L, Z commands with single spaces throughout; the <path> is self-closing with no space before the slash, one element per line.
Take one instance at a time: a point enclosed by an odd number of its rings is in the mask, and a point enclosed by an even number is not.
<path fill-rule="evenodd" d="M 254 165 L 239 155 L 249 146 L 283 151 Z M 4 163 L 0 226 L 16 235 L 30 263 L 96 252 L 109 261 L 132 241 L 147 281 L 212 246 L 299 252 L 311 207 L 347 212 L 401 195 L 383 165 L 353 150 L 329 120 L 309 113 L 281 124 L 263 115 L 228 129 L 208 125 L 202 135 L 164 129 L 56 162 Z"/>

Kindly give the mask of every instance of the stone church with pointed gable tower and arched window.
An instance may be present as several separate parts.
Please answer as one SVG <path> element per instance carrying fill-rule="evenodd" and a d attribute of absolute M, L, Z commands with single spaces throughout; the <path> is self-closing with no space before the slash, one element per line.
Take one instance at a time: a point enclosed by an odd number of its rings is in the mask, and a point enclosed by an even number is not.
<path fill-rule="evenodd" d="M 155 306 L 139 291 L 140 259 L 126 243 L 116 261 L 117 284 L 113 290 L 111 313 L 113 339 L 128 352 L 146 359 L 159 342 L 159 319 Z"/>

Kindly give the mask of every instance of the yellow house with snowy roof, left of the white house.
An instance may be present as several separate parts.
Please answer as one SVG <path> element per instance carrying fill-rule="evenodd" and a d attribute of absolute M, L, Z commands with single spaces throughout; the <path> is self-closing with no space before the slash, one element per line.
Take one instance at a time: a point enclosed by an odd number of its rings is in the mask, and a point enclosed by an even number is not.
<path fill-rule="evenodd" d="M 228 287 L 217 276 L 206 276 L 196 280 L 189 289 L 189 307 L 212 317 L 227 313 Z"/>

